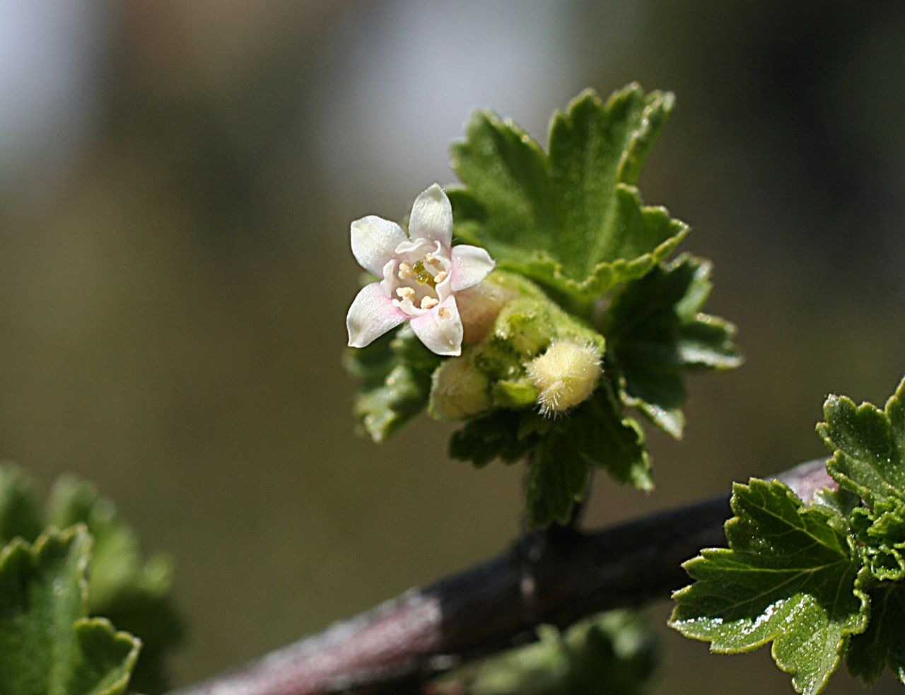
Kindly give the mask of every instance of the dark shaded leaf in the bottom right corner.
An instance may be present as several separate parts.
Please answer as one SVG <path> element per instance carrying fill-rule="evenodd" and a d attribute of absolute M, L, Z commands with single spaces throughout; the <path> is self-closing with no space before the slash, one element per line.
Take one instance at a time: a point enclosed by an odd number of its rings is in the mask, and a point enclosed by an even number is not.
<path fill-rule="evenodd" d="M 905 682 L 905 583 L 881 582 L 868 590 L 871 622 L 856 634 L 845 655 L 845 665 L 853 676 L 871 684 L 884 666 Z"/>

